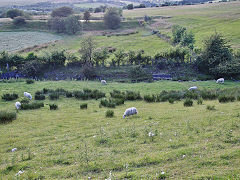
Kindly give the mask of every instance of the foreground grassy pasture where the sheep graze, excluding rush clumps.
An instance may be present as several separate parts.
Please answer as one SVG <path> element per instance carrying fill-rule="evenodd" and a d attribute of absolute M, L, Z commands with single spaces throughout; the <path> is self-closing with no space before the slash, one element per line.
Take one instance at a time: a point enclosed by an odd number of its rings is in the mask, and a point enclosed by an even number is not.
<path fill-rule="evenodd" d="M 113 89 L 139 91 L 182 90 L 197 85 L 200 89 L 233 88 L 239 83 L 214 81 L 119 84 L 99 82 L 0 83 L 0 95 L 23 94 L 43 88 L 80 90 Z M 52 102 L 52 101 L 51 101 Z M 17 120 L 0 124 L 0 177 L 21 179 L 239 179 L 240 178 L 240 102 L 194 102 L 184 107 L 174 104 L 127 101 L 105 118 L 107 108 L 99 101 L 79 101 L 61 97 L 54 101 L 59 110 L 20 111 Z M 87 110 L 80 110 L 81 103 Z M 206 109 L 215 105 L 215 111 Z M 122 119 L 127 107 L 135 106 L 137 116 Z M 0 101 L 1 110 L 14 111 L 14 102 Z M 151 139 L 149 132 L 154 132 Z M 17 148 L 12 153 L 11 149 Z M 164 172 L 164 175 L 161 173 Z"/>

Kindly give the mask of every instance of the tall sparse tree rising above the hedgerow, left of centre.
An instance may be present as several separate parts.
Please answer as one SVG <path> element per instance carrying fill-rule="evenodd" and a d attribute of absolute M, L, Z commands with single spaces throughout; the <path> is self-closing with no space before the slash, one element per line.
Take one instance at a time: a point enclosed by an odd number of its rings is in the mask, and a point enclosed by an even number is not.
<path fill-rule="evenodd" d="M 79 53 L 81 54 L 81 59 L 84 64 L 93 63 L 93 52 L 95 49 L 95 41 L 91 36 L 85 37 L 81 42 L 81 49 L 79 49 Z"/>

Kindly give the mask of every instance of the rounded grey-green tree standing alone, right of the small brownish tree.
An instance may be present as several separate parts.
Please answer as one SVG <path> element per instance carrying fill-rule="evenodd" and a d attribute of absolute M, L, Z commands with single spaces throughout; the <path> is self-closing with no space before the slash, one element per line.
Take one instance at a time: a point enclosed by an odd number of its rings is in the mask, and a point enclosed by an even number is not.
<path fill-rule="evenodd" d="M 117 8 L 110 7 L 104 14 L 104 24 L 110 29 L 117 29 L 121 23 L 121 14 Z"/>

